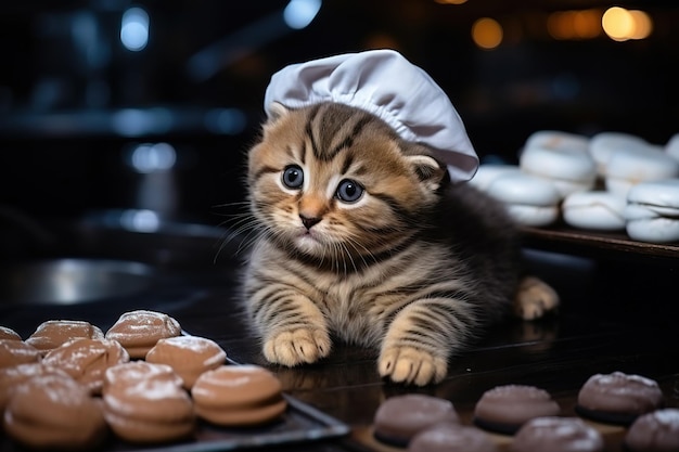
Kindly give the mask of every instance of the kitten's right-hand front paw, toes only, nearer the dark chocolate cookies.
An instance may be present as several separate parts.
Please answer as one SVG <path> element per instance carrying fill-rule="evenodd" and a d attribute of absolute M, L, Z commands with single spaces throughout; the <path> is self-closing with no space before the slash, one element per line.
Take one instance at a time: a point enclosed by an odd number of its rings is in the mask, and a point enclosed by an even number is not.
<path fill-rule="evenodd" d="M 448 363 L 413 347 L 390 347 L 382 351 L 377 369 L 393 382 L 425 386 L 444 379 Z"/>

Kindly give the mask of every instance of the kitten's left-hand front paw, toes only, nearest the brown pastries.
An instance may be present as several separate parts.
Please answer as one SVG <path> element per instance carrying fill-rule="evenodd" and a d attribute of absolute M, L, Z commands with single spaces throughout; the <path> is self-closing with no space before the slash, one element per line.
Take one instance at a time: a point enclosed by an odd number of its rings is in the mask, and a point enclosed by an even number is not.
<path fill-rule="evenodd" d="M 326 357 L 331 347 L 326 332 L 300 328 L 267 339 L 264 344 L 264 356 L 269 362 L 292 367 Z"/>

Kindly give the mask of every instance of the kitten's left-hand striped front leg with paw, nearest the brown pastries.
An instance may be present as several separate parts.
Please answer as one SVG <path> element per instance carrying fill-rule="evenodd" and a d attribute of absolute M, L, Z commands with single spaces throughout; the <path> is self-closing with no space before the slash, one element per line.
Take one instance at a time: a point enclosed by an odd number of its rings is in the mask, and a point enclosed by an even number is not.
<path fill-rule="evenodd" d="M 276 364 L 294 366 L 312 363 L 332 349 L 323 314 L 302 295 L 282 296 L 258 311 L 256 322 L 262 332 L 265 358 Z"/>

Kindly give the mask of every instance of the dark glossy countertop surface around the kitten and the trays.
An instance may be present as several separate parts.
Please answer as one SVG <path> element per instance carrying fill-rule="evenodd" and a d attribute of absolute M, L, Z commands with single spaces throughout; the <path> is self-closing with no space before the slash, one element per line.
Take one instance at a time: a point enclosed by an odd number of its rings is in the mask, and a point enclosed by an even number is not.
<path fill-rule="evenodd" d="M 71 256 L 145 261 L 158 268 L 157 277 L 138 294 L 98 302 L 0 302 L 0 324 L 22 337 L 52 319 L 87 320 L 105 331 L 125 311 L 152 309 L 172 315 L 190 334 L 216 340 L 234 362 L 267 365 L 234 300 L 238 246 L 227 244 L 215 259 L 223 231 L 193 236 L 89 227 L 67 231 L 63 241 Z M 545 243 L 540 246 L 549 248 Z M 380 403 L 413 391 L 451 400 L 462 422 L 471 423 L 474 403 L 485 390 L 510 383 L 535 385 L 552 393 L 568 415 L 590 375 L 622 371 L 656 379 L 666 404 L 679 406 L 679 260 L 648 259 L 628 250 L 624 256 L 593 250 L 576 257 L 531 248 L 527 256 L 534 271 L 560 292 L 560 311 L 536 322 L 509 321 L 494 327 L 453 360 L 439 385 L 412 388 L 383 382 L 375 369 L 376 353 L 348 345 L 336 345 L 326 360 L 315 365 L 271 366 L 287 395 L 353 428 L 342 438 L 279 449 L 364 450 L 371 445 L 367 431 Z M 619 431 L 608 448 L 619 450 Z"/>

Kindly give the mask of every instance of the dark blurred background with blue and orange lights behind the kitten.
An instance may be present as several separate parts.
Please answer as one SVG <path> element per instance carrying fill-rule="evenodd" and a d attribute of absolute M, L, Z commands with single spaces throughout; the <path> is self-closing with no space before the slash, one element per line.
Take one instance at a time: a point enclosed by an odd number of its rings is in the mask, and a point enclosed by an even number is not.
<path fill-rule="evenodd" d="M 664 144 L 678 27 L 659 0 L 5 1 L 0 206 L 219 224 L 271 74 L 371 48 L 428 72 L 482 158 L 513 162 L 541 129 Z"/>

